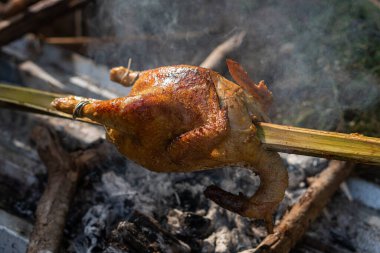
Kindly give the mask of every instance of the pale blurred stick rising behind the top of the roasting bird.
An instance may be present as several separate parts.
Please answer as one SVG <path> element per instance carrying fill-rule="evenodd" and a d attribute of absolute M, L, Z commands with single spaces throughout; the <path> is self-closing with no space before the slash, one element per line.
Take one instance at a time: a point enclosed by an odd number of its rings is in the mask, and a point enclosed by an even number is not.
<path fill-rule="evenodd" d="M 217 69 L 219 65 L 224 64 L 228 54 L 240 47 L 245 35 L 246 32 L 243 31 L 224 41 L 217 46 L 199 66 L 214 70 Z"/>

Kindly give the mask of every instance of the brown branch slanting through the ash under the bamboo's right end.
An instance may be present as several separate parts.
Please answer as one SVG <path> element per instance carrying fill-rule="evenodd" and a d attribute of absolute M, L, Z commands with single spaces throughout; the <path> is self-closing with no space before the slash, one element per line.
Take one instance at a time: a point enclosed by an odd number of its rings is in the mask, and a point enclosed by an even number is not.
<path fill-rule="evenodd" d="M 331 161 L 328 168 L 313 181 L 301 199 L 282 218 L 275 233 L 268 235 L 256 249 L 244 253 L 289 252 L 310 223 L 318 217 L 339 185 L 350 175 L 353 167 L 352 163 Z"/>

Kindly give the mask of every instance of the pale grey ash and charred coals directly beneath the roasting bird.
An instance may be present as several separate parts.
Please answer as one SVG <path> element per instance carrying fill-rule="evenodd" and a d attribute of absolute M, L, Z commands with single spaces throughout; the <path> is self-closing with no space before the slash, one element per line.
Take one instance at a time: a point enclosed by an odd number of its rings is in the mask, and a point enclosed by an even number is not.
<path fill-rule="evenodd" d="M 276 222 L 306 190 L 306 177 L 327 165 L 320 158 L 282 157 L 289 168 L 290 187 L 276 213 Z M 71 252 L 110 251 L 112 232 L 128 222 L 135 211 L 153 217 L 193 252 L 239 252 L 254 248 L 266 236 L 262 222 L 226 211 L 203 195 L 211 184 L 235 193 L 254 194 L 260 180 L 251 171 L 221 168 L 155 173 L 125 158 L 117 160 L 91 172 L 83 182 L 86 187 L 80 186 L 69 221 L 75 227 L 70 229 Z M 132 248 L 126 252 L 139 251 Z"/>

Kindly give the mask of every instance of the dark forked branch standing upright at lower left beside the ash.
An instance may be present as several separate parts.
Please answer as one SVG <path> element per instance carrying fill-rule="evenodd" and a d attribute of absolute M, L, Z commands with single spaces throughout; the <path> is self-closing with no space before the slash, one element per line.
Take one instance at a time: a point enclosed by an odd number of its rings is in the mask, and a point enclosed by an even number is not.
<path fill-rule="evenodd" d="M 61 146 L 57 134 L 44 127 L 34 129 L 32 138 L 47 168 L 48 182 L 37 206 L 28 253 L 58 252 L 78 180 L 89 164 L 104 158 L 107 149 L 98 147 L 70 154 Z"/>

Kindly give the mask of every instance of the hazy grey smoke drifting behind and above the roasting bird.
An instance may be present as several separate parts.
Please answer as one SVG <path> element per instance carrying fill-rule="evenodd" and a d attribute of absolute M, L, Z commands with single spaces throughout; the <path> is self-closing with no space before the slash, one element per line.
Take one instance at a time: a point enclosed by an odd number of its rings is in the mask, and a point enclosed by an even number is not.
<path fill-rule="evenodd" d="M 371 62 L 379 54 L 379 25 L 368 18 L 368 4 L 97 1 L 89 33 L 115 41 L 91 45 L 89 54 L 110 67 L 127 65 L 129 58 L 134 69 L 198 65 L 231 33 L 245 30 L 232 57 L 255 81 L 268 83 L 275 97 L 272 119 L 334 130 L 346 110 L 360 112 L 379 101 L 378 63 Z"/>

